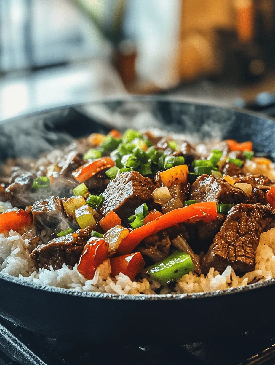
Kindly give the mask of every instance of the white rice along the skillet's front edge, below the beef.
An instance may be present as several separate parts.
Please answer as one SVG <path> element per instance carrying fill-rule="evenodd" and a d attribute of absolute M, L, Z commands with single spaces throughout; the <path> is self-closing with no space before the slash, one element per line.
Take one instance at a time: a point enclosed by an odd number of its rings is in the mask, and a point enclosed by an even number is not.
<path fill-rule="evenodd" d="M 0 271 L 22 280 L 33 281 L 42 285 L 68 288 L 74 291 L 104 292 L 116 294 L 154 294 L 160 284 L 156 281 L 149 283 L 144 278 L 131 281 L 130 278 L 120 273 L 115 278 L 110 277 L 110 260 L 106 260 L 98 267 L 92 280 L 86 280 L 77 270 L 77 265 L 69 268 L 63 264 L 61 269 L 50 270 L 35 268 L 33 260 L 28 253 L 28 240 L 23 239 L 17 232 L 10 231 L 9 237 L 0 234 Z M 263 281 L 275 278 L 275 228 L 262 233 L 256 251 L 256 268 L 254 271 L 238 277 L 231 266 L 222 274 L 209 270 L 204 276 L 194 272 L 184 275 L 176 283 L 173 293 L 196 293 L 215 290 L 225 290 L 232 287 L 247 285 L 251 281 Z M 161 288 L 161 294 L 169 294 L 168 288 Z"/>

